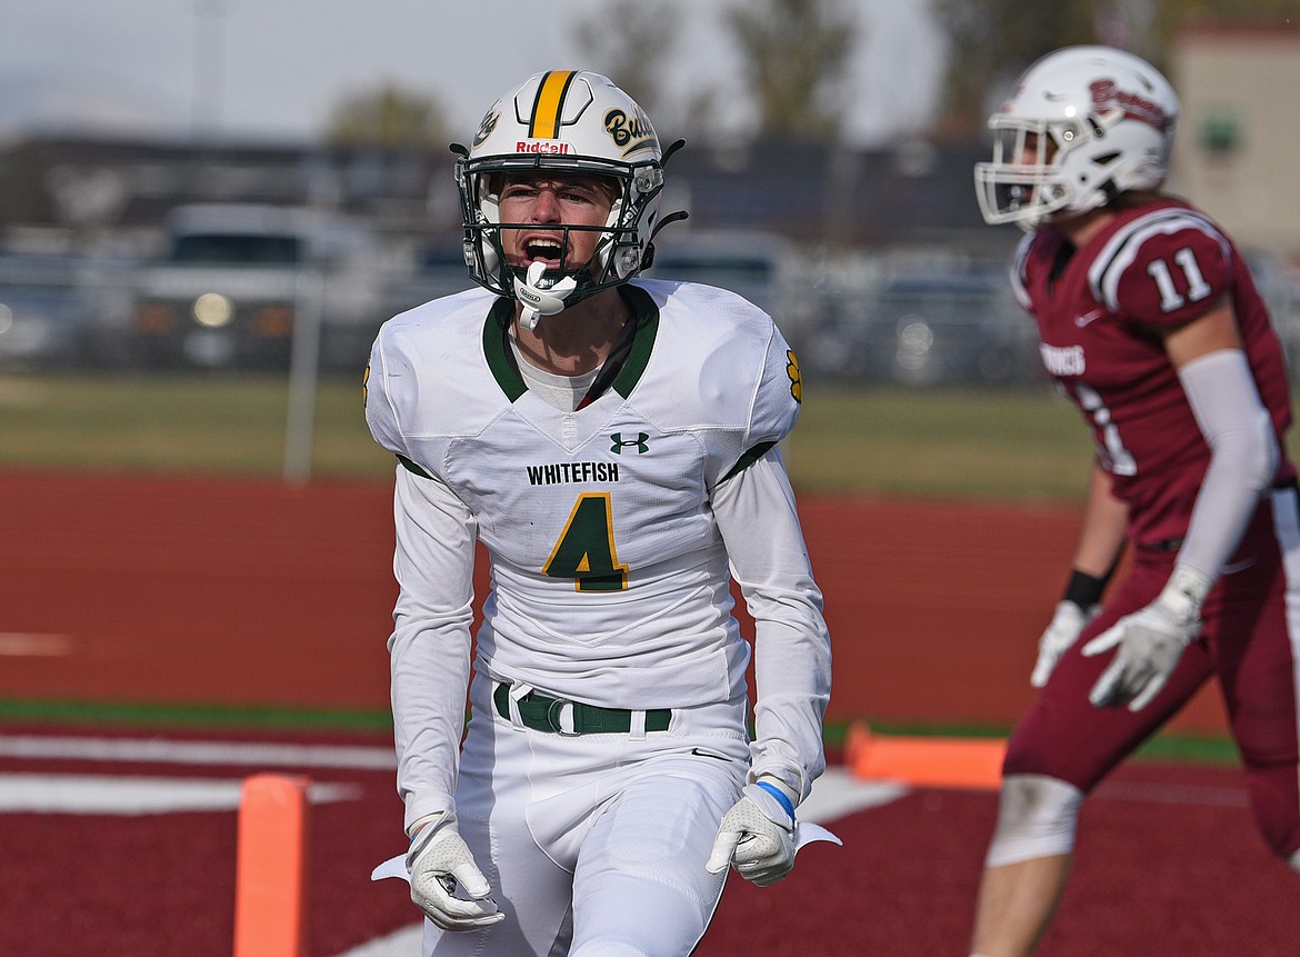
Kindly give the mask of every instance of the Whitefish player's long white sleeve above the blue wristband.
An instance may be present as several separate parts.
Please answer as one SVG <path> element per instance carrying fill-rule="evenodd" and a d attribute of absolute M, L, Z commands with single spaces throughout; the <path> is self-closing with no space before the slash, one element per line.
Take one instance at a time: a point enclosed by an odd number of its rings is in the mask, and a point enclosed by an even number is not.
<path fill-rule="evenodd" d="M 772 449 L 719 485 L 712 505 L 732 576 L 754 618 L 750 780 L 772 775 L 802 800 L 826 767 L 831 637 L 780 452 Z"/>

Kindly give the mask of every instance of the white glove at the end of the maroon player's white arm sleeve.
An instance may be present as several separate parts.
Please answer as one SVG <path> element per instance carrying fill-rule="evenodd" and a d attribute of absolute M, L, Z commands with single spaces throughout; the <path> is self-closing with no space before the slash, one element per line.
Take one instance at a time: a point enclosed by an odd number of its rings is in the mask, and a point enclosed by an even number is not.
<path fill-rule="evenodd" d="M 1140 711 L 1160 693 L 1183 649 L 1200 635 L 1201 603 L 1210 584 L 1201 572 L 1179 566 L 1156 601 L 1083 646 L 1088 657 L 1119 649 L 1088 694 L 1095 707 L 1127 702 L 1130 711 Z"/>

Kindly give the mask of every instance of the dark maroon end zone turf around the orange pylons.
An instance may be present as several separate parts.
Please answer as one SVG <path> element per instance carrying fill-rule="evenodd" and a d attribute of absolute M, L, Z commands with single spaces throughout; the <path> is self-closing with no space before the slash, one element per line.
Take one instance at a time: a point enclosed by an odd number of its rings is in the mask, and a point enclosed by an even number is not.
<path fill-rule="evenodd" d="M 251 770 L 0 758 L 0 781 L 16 772 L 237 780 Z M 337 957 L 417 918 L 403 884 L 369 880 L 402 849 L 400 807 L 390 771 L 302 772 L 356 788 L 356 800 L 315 806 L 309 827 L 308 956 Z M 991 792 L 919 789 L 835 822 L 844 848 L 810 845 L 781 884 L 755 888 L 733 874 L 698 957 L 965 957 L 994 801 Z M 1300 884 L 1253 832 L 1235 770 L 1121 768 L 1084 805 L 1082 833 L 1043 957 L 1296 953 Z M 0 813 L 0 953 L 229 957 L 235 835 L 234 811 Z"/>

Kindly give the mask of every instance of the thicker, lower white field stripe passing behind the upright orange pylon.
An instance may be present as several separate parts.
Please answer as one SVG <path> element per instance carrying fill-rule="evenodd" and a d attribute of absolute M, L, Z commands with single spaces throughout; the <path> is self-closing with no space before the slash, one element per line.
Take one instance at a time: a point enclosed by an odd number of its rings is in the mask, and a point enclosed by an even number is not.
<path fill-rule="evenodd" d="M 0 774 L 0 814 L 173 814 L 233 811 L 243 781 L 136 775 Z M 354 784 L 308 784 L 312 804 L 354 801 Z"/>

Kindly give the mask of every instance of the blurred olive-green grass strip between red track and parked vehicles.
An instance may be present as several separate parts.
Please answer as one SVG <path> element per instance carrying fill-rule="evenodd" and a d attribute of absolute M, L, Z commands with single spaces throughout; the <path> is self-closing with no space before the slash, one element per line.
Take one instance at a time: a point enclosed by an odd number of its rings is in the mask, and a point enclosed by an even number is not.
<path fill-rule="evenodd" d="M 280 374 L 0 373 L 0 468 L 212 473 L 283 471 Z M 805 384 L 784 445 L 803 493 L 948 499 L 1078 499 L 1089 443 L 1048 387 L 922 390 Z M 391 481 L 360 377 L 320 381 L 312 476 Z"/>

